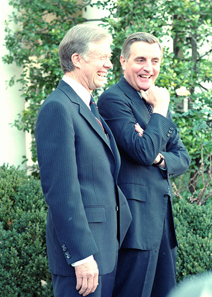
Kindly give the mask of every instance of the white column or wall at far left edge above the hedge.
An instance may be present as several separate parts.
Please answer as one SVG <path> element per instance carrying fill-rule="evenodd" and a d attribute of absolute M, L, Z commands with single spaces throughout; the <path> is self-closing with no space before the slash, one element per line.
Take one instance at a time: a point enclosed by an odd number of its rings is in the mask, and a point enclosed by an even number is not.
<path fill-rule="evenodd" d="M 21 69 L 14 64 L 4 64 L 1 57 L 7 53 L 4 44 L 4 20 L 7 15 L 11 14 L 12 6 L 8 5 L 7 0 L 1 1 L 0 9 L 0 165 L 9 163 L 22 169 L 26 165 L 22 164 L 22 155 L 26 154 L 25 133 L 19 131 L 16 127 L 11 127 L 9 123 L 14 123 L 17 114 L 24 109 L 24 100 L 20 97 L 18 91 L 20 85 L 15 84 L 13 87 L 6 89 L 6 82 L 14 74 L 19 75 Z M 12 28 L 15 30 L 15 27 Z"/>

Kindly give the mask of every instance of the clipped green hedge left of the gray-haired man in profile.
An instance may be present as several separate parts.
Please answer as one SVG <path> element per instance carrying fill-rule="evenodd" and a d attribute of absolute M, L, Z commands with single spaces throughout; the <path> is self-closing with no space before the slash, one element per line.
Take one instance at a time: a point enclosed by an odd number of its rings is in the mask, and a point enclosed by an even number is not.
<path fill-rule="evenodd" d="M 39 180 L 0 167 L 0 297 L 53 297 Z M 47 285 L 42 287 L 41 280 Z"/>

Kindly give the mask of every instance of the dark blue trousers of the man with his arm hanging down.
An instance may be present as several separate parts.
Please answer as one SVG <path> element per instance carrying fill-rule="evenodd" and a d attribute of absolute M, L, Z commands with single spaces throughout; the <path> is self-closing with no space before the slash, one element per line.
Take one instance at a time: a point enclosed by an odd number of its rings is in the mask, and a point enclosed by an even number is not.
<path fill-rule="evenodd" d="M 118 257 L 118 251 L 117 251 Z M 107 261 L 107 259 L 105 259 Z M 99 275 L 98 286 L 94 293 L 88 297 L 111 297 L 116 275 L 116 265 L 111 273 Z M 76 290 L 77 279 L 75 276 L 61 276 L 52 274 L 54 297 L 80 297 Z"/>

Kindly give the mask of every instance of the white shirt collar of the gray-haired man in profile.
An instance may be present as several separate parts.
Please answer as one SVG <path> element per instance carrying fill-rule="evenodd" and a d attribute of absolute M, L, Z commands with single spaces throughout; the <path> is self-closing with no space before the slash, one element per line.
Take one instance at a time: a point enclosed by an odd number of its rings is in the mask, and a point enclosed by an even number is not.
<path fill-rule="evenodd" d="M 85 89 L 85 87 L 79 84 L 74 79 L 68 77 L 67 75 L 63 75 L 62 80 L 66 82 L 77 93 L 77 95 L 84 101 L 84 103 L 90 109 L 90 93 Z"/>

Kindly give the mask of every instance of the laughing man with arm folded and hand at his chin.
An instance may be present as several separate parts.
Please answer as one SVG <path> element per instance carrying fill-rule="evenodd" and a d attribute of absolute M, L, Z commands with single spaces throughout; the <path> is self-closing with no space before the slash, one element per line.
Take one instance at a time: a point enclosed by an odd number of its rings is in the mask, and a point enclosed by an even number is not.
<path fill-rule="evenodd" d="M 171 118 L 170 94 L 154 85 L 162 57 L 156 37 L 131 34 L 120 57 L 124 77 L 97 103 L 120 150 L 118 185 L 132 214 L 113 297 L 166 297 L 176 285 L 170 178 L 187 170 L 190 157 Z"/>

